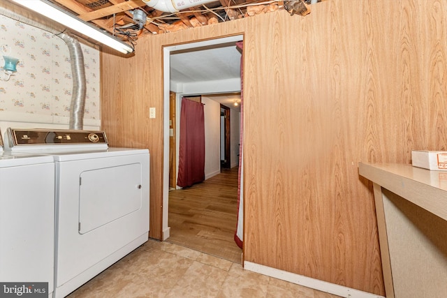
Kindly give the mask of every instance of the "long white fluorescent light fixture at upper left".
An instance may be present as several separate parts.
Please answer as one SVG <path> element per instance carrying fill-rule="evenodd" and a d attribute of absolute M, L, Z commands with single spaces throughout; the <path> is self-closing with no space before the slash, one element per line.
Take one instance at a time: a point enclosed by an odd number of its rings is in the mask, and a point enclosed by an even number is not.
<path fill-rule="evenodd" d="M 54 5 L 50 1 L 46 0 L 12 0 L 25 8 L 29 8 L 34 10 L 36 13 L 40 13 L 45 17 L 49 17 L 50 19 L 58 22 L 59 24 L 63 24 L 64 26 L 71 28 L 79 33 L 82 33 L 85 36 L 89 36 L 94 40 L 102 43 L 103 45 L 107 45 L 108 47 L 112 47 L 123 54 L 128 54 L 133 52 L 133 48 L 124 43 L 122 40 L 115 38 L 115 36 L 111 36 L 108 33 L 104 33 L 98 28 L 92 26 L 91 24 L 80 20 L 75 15 L 68 13 L 65 10 L 62 10 L 58 6 Z"/>

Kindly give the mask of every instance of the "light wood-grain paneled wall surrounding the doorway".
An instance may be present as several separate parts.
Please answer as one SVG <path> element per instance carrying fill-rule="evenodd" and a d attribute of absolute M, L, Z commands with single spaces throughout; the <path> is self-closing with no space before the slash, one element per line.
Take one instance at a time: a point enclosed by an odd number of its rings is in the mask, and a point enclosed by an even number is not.
<path fill-rule="evenodd" d="M 358 162 L 447 149 L 447 1 L 329 0 L 103 54 L 103 129 L 151 151 L 161 237 L 163 45 L 244 33 L 244 258 L 384 295 L 372 184 Z M 157 118 L 149 119 L 149 107 Z"/>

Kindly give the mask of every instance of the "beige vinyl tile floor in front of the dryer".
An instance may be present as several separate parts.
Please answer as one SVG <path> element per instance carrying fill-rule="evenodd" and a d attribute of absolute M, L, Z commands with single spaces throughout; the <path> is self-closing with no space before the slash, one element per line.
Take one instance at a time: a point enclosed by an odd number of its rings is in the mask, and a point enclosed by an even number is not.
<path fill-rule="evenodd" d="M 244 270 L 242 265 L 149 239 L 68 298 L 293 297 L 333 298 L 325 292 Z"/>

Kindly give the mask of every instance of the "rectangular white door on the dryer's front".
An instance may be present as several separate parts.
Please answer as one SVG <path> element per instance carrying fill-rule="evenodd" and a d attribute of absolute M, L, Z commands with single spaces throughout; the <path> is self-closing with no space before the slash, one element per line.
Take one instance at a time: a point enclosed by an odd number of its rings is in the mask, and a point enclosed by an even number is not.
<path fill-rule="evenodd" d="M 80 174 L 79 233 L 85 234 L 141 208 L 141 164 Z"/>

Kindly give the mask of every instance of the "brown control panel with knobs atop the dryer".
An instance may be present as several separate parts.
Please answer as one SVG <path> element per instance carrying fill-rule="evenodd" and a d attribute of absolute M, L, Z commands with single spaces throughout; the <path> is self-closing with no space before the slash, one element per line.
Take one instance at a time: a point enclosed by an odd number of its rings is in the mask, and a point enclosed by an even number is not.
<path fill-rule="evenodd" d="M 8 128 L 10 147 L 43 144 L 108 144 L 103 131 Z"/>

